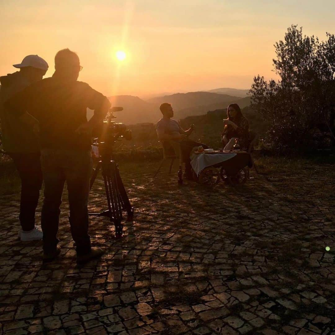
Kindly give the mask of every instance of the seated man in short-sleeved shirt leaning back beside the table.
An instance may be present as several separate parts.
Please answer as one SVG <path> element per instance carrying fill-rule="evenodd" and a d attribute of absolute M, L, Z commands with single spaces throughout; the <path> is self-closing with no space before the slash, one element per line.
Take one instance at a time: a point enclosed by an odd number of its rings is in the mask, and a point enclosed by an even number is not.
<path fill-rule="evenodd" d="M 194 130 L 194 125 L 191 125 L 189 130 L 184 130 L 179 123 L 171 119 L 173 117 L 173 108 L 171 104 L 163 103 L 159 107 L 163 117 L 156 124 L 158 139 L 163 141 L 176 141 L 180 143 L 183 158 L 185 159 L 185 175 L 186 178 L 192 178 L 192 169 L 190 161 L 190 153 L 193 147 L 202 145 L 204 149 L 207 146 L 188 139 Z"/>

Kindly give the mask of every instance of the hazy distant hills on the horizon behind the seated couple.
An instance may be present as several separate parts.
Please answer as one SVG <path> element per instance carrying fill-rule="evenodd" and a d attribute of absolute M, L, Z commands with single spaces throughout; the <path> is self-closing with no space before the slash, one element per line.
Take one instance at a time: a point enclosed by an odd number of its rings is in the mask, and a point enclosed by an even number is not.
<path fill-rule="evenodd" d="M 242 91 L 242 90 L 238 90 Z M 245 90 L 248 91 L 248 90 Z M 241 93 L 242 94 L 242 93 Z M 241 108 L 250 105 L 250 97 L 232 96 L 213 92 L 176 93 L 143 100 L 133 95 L 116 95 L 109 97 L 112 106 L 122 106 L 123 111 L 117 112 L 117 122 L 136 124 L 156 122 L 161 118 L 160 104 L 170 103 L 175 111 L 175 119 L 206 114 L 209 110 L 226 108 L 237 103 Z"/>

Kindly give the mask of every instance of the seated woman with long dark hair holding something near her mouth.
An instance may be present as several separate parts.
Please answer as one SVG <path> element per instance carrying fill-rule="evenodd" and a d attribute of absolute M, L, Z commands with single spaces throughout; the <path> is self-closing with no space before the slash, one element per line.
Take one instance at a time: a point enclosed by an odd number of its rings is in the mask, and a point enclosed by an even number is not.
<path fill-rule="evenodd" d="M 242 114 L 238 104 L 230 104 L 227 108 L 227 119 L 223 120 L 222 144 L 225 146 L 233 137 L 239 139 L 241 149 L 249 146 L 249 123 Z"/>

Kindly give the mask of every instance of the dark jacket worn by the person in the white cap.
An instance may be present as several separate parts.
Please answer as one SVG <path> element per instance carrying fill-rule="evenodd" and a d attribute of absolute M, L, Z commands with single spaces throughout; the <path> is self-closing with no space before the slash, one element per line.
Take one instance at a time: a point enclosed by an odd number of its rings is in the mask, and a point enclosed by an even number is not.
<path fill-rule="evenodd" d="M 0 77 L 0 121 L 2 145 L 6 152 L 31 153 L 39 152 L 38 137 L 32 129 L 13 115 L 13 109 L 4 106 L 7 99 L 22 91 L 30 82 L 20 72 Z"/>

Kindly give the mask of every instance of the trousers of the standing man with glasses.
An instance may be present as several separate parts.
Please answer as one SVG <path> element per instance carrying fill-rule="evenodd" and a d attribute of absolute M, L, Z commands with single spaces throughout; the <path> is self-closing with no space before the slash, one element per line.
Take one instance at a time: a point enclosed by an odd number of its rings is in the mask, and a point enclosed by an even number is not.
<path fill-rule="evenodd" d="M 87 201 L 92 174 L 92 158 L 89 150 L 42 150 L 44 178 L 44 202 L 42 207 L 43 250 L 56 250 L 60 205 L 65 182 L 67 183 L 70 226 L 76 243 L 77 255 L 90 252 L 88 235 Z"/>

